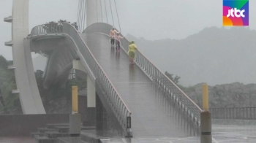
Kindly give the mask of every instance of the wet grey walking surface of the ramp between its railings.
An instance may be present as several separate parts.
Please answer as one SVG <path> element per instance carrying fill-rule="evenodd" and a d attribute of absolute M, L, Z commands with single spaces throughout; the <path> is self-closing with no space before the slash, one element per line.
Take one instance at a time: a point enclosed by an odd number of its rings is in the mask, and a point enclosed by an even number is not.
<path fill-rule="evenodd" d="M 154 82 L 137 65 L 129 65 L 127 54 L 123 50 L 120 53 L 111 50 L 108 36 L 81 36 L 131 110 L 135 137 L 195 135 L 192 125 L 167 101 Z"/>

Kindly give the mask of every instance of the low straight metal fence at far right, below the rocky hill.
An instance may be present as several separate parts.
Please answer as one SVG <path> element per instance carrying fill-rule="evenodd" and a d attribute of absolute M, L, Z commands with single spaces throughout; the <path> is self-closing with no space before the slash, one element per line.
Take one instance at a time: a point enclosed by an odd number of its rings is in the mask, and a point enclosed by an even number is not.
<path fill-rule="evenodd" d="M 256 107 L 210 108 L 213 119 L 256 120 Z"/>

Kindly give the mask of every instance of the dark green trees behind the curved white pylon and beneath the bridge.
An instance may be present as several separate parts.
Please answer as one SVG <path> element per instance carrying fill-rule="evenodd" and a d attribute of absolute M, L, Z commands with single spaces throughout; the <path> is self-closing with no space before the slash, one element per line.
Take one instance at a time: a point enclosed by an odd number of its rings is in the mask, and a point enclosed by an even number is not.
<path fill-rule="evenodd" d="M 22 114 L 20 98 L 18 95 L 12 94 L 12 90 L 17 88 L 14 71 L 8 69 L 8 66 L 12 64 L 12 61 L 7 61 L 0 55 L 0 88 L 5 103 L 4 107 L 0 107 L 0 114 Z M 71 101 L 72 86 L 77 85 L 78 90 L 83 90 L 87 87 L 86 79 L 77 77 L 68 80 L 65 88 L 57 88 L 56 86 L 53 89 L 47 90 L 42 86 L 42 73 L 35 72 L 35 76 L 39 93 L 46 109 L 50 105 L 50 102 L 58 101 L 61 98 L 66 98 L 67 104 L 69 104 Z"/>

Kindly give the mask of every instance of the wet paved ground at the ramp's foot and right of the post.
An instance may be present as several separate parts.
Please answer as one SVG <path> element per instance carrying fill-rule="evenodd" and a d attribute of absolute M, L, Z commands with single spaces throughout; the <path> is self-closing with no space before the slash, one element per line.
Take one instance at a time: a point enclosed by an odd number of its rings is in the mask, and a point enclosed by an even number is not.
<path fill-rule="evenodd" d="M 213 143 L 255 143 L 256 126 L 255 125 L 213 125 L 212 126 Z M 129 141 L 126 141 L 129 143 Z M 200 143 L 200 136 L 185 138 L 138 138 L 132 139 L 132 143 Z"/>

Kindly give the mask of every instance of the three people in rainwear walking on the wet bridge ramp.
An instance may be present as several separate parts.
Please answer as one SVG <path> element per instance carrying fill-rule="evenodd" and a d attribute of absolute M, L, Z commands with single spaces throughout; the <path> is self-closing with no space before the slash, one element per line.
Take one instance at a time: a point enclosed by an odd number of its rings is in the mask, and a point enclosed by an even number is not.
<path fill-rule="evenodd" d="M 111 49 L 114 48 L 116 45 L 116 52 L 120 52 L 120 40 L 124 38 L 124 36 L 121 36 L 119 32 L 115 29 L 112 28 L 110 30 L 110 43 L 111 43 Z M 135 58 L 135 52 L 137 50 L 137 46 L 135 45 L 135 42 L 129 42 L 129 50 L 128 50 L 128 55 L 129 55 L 129 63 L 134 64 L 134 58 Z"/>

